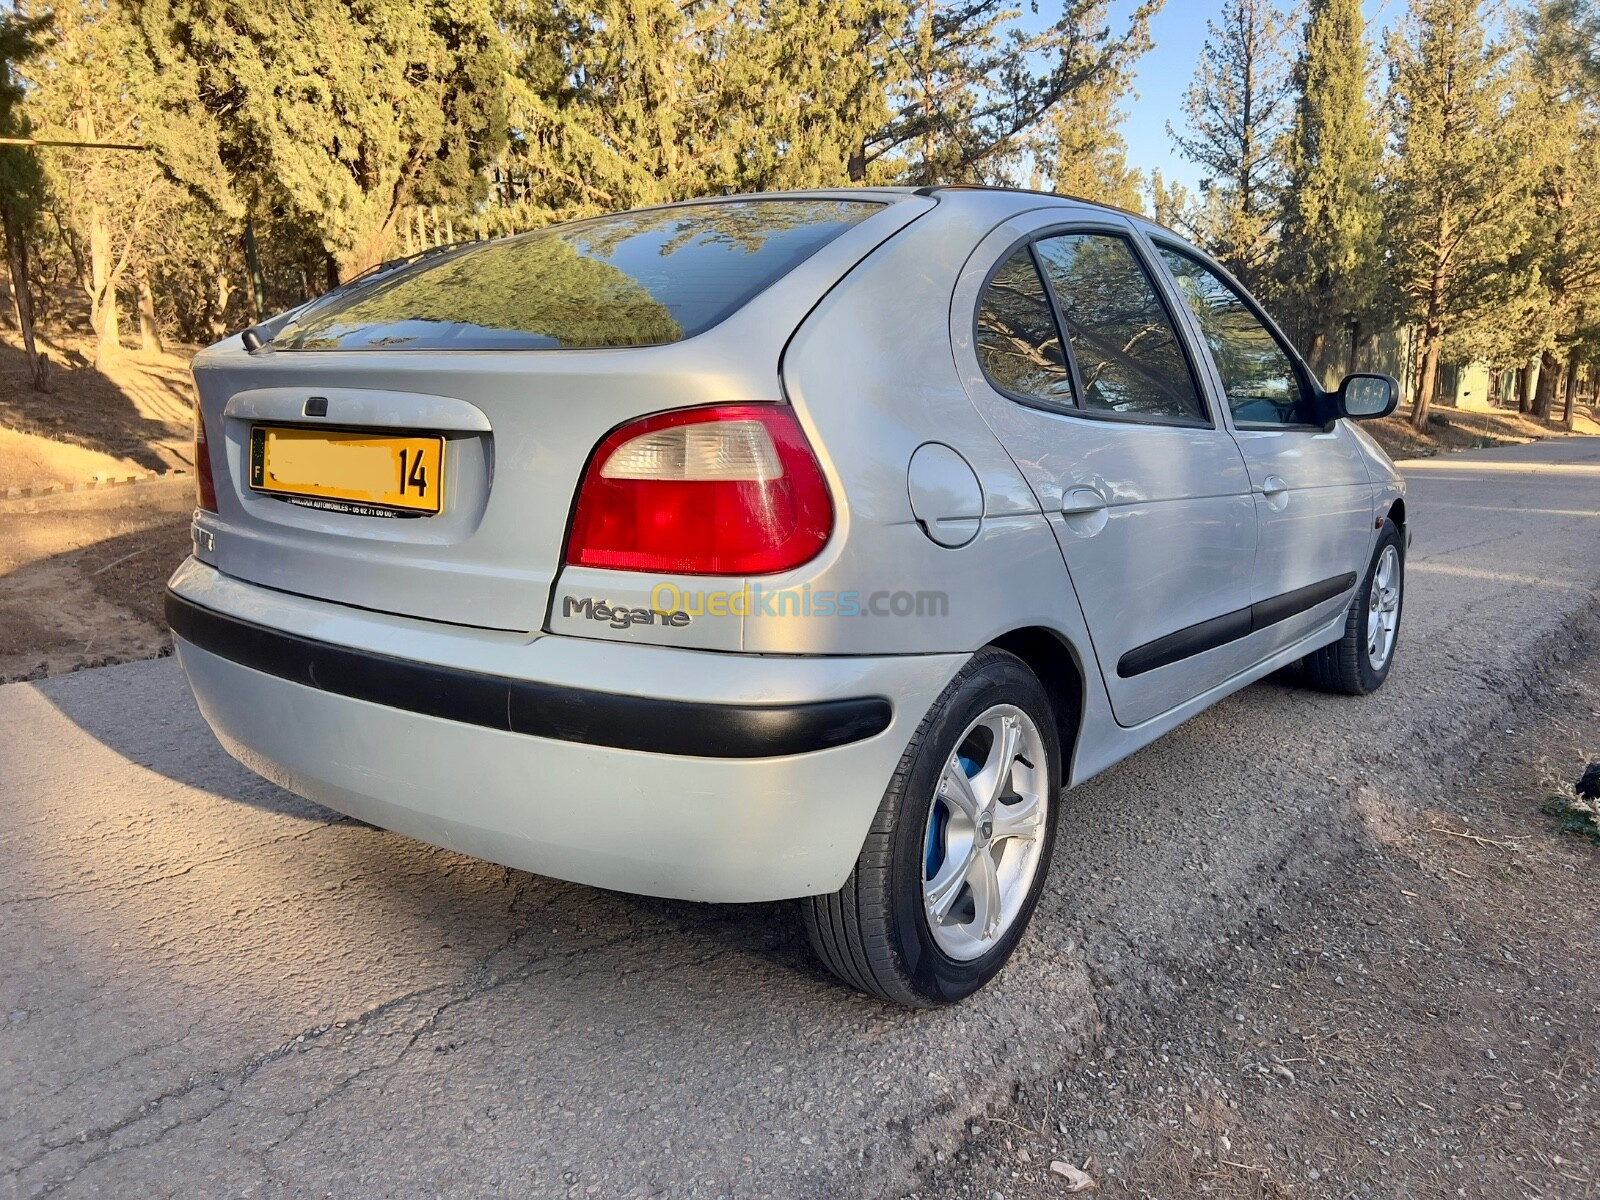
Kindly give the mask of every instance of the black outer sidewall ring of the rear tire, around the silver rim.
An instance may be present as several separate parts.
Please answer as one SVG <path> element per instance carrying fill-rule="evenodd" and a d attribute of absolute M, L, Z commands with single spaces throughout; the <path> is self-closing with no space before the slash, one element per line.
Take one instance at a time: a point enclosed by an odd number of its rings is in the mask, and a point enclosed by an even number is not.
<path fill-rule="evenodd" d="M 978 958 L 962 962 L 950 958 L 933 939 L 923 906 L 923 854 L 928 827 L 928 811 L 933 806 L 939 776 L 957 739 L 966 726 L 986 709 L 995 704 L 1014 704 L 1022 709 L 1038 728 L 1050 758 L 1046 778 L 1048 803 L 1045 808 L 1043 845 L 1038 867 L 1021 910 L 1011 928 L 992 949 Z M 1034 674 L 1010 654 L 997 654 L 965 675 L 949 693 L 928 726 L 917 750 L 917 758 L 906 778 L 894 816 L 893 851 L 890 859 L 890 894 L 894 898 L 893 931 L 901 966 L 910 986 L 931 1003 L 950 1003 L 971 995 L 982 987 L 1011 957 L 1018 941 L 1027 931 L 1027 923 L 1038 904 L 1038 896 L 1050 872 L 1050 856 L 1056 842 L 1056 818 L 1061 797 L 1061 746 L 1050 699 Z"/>

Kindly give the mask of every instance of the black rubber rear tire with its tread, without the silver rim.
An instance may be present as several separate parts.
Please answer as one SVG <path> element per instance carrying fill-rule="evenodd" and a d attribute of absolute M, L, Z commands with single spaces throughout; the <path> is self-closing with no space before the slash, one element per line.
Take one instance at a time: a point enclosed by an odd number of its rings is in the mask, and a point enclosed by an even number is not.
<path fill-rule="evenodd" d="M 1043 843 L 1032 886 L 1011 926 L 990 950 L 963 962 L 946 955 L 928 928 L 923 842 L 955 741 L 995 704 L 1013 704 L 1027 714 L 1043 741 L 1050 760 Z M 802 901 L 818 957 L 851 987 L 899 1005 L 949 1005 L 976 992 L 1005 966 L 1038 904 L 1056 840 L 1059 794 L 1061 746 L 1050 698 L 1014 654 L 979 651 L 939 694 L 906 747 L 845 886 L 832 896 Z"/>

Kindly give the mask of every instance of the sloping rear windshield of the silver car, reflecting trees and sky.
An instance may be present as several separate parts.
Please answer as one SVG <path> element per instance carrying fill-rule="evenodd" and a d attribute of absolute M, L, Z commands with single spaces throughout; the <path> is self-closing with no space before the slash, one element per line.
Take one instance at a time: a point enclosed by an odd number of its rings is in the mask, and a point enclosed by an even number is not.
<path fill-rule="evenodd" d="M 546 350 L 693 338 L 883 205 L 723 200 L 552 226 L 413 262 L 314 304 L 291 350 Z"/>

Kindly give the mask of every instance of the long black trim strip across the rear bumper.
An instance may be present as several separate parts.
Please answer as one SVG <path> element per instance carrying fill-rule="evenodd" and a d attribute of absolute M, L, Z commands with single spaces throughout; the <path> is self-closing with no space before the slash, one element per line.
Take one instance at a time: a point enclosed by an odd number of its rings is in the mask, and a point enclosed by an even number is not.
<path fill-rule="evenodd" d="M 882 696 L 805 704 L 701 704 L 483 675 L 267 629 L 166 592 L 176 637 L 251 670 L 352 699 L 619 750 L 774 758 L 862 741 L 890 726 Z"/>

